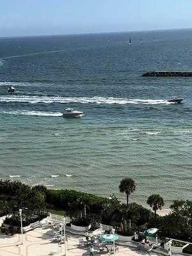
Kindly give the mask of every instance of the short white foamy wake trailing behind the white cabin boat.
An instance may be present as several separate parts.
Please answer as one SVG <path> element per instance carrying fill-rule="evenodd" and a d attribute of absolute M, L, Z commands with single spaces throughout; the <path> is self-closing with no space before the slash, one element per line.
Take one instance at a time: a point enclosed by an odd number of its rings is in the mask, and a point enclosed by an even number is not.
<path fill-rule="evenodd" d="M 16 111 L 0 111 L 3 114 L 10 115 L 26 115 L 26 116 L 62 116 L 60 112 L 41 112 L 41 111 L 28 111 L 28 110 L 16 110 Z"/>

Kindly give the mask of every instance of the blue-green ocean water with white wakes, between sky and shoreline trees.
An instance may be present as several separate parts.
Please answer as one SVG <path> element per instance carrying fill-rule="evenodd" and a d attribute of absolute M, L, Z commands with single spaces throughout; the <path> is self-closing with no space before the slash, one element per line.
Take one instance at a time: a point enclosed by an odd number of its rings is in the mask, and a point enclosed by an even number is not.
<path fill-rule="evenodd" d="M 125 201 L 131 177 L 131 202 L 191 199 L 192 78 L 141 77 L 191 70 L 191 56 L 191 29 L 0 38 L 1 179 Z"/>

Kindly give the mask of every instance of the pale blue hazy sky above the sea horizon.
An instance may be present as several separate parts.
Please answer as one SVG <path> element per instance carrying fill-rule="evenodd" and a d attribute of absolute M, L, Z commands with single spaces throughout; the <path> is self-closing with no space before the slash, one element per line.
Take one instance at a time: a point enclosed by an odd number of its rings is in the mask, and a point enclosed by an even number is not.
<path fill-rule="evenodd" d="M 192 0 L 0 0 L 0 36 L 192 28 Z"/>

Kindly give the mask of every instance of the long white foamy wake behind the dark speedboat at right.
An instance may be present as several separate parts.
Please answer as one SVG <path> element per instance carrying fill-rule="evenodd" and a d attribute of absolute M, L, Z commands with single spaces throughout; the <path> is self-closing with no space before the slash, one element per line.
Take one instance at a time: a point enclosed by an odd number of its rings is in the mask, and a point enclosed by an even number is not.
<path fill-rule="evenodd" d="M 143 99 L 126 99 L 126 98 L 113 98 L 113 97 L 36 97 L 36 96 L 1 96 L 0 102 L 29 102 L 35 103 L 96 103 L 96 104 L 172 104 L 167 100 L 143 100 Z"/>

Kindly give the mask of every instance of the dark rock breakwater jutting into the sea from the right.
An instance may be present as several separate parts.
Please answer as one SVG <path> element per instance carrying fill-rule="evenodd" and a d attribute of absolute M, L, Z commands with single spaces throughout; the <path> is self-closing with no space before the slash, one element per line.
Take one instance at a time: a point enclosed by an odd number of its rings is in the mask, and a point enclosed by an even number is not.
<path fill-rule="evenodd" d="M 153 72 L 147 72 L 143 74 L 142 76 L 185 76 L 185 77 L 192 77 L 192 71 L 153 71 Z"/>

